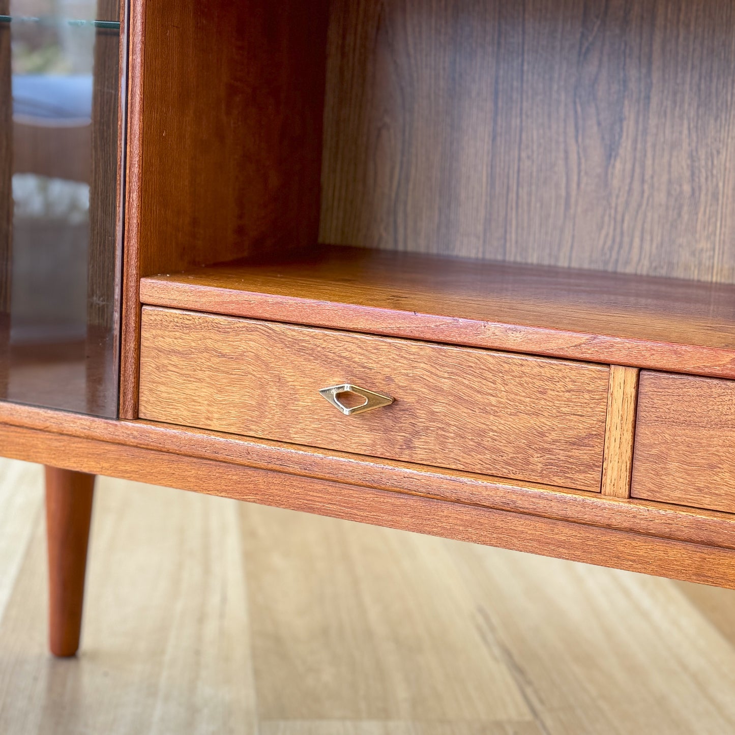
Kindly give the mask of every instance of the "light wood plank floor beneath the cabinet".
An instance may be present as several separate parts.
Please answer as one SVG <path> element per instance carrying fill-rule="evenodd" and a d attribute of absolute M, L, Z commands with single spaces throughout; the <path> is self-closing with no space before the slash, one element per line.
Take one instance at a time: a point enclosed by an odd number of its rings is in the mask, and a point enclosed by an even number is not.
<path fill-rule="evenodd" d="M 42 470 L 0 460 L 0 733 L 735 732 L 735 593 L 98 481 L 46 653 Z"/>

